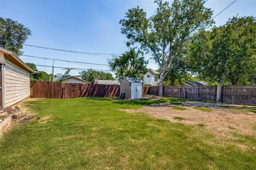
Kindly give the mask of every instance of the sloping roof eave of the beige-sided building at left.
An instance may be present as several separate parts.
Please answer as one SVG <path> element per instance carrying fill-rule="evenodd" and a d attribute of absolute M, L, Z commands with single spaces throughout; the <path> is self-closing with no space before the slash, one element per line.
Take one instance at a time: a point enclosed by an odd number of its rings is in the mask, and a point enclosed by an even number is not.
<path fill-rule="evenodd" d="M 22 69 L 26 70 L 29 73 L 38 73 L 34 70 L 32 70 L 26 63 L 24 63 L 15 53 L 11 52 L 10 50 L 7 50 L 3 47 L 0 47 L 0 52 L 3 52 L 6 54 L 6 58 L 13 62 L 14 64 L 20 66 Z"/>

